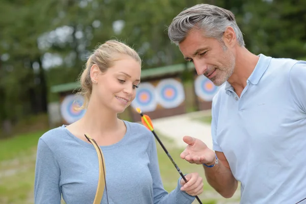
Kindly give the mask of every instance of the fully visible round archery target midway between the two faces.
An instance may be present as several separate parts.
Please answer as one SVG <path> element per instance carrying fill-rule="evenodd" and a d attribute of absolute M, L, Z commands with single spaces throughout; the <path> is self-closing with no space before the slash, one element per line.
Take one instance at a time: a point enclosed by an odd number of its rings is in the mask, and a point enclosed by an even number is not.
<path fill-rule="evenodd" d="M 156 87 L 159 104 L 164 108 L 175 108 L 185 100 L 184 87 L 175 79 L 161 80 Z"/>

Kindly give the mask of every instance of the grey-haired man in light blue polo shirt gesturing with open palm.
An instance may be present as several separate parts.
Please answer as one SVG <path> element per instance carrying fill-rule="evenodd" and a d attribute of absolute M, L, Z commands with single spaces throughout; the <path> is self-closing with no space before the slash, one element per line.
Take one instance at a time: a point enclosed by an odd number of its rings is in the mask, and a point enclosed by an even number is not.
<path fill-rule="evenodd" d="M 212 103 L 213 150 L 185 136 L 181 158 L 203 164 L 208 183 L 241 203 L 306 197 L 306 62 L 250 53 L 231 11 L 182 11 L 168 35 L 197 74 L 221 86 Z M 306 203 L 306 199 L 304 200 Z"/>

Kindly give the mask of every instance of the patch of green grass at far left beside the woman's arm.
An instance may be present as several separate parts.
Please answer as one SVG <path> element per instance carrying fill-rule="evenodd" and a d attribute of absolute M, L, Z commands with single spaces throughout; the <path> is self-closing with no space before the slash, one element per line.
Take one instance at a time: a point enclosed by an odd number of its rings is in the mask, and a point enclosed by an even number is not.
<path fill-rule="evenodd" d="M 21 134 L 1 140 L 0 203 L 34 203 L 35 152 L 42 134 Z"/>

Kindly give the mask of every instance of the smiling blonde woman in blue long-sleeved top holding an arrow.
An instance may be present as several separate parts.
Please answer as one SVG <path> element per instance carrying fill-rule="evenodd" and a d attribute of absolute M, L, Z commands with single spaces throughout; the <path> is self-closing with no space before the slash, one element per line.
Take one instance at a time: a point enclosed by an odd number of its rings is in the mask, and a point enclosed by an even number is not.
<path fill-rule="evenodd" d="M 159 172 L 154 136 L 141 124 L 120 120 L 140 83 L 141 59 L 134 49 L 110 40 L 90 56 L 81 75 L 85 115 L 46 132 L 38 142 L 35 203 L 93 203 L 98 183 L 97 152 L 103 151 L 106 188 L 101 203 L 192 203 L 202 178 L 187 174 L 169 194 Z"/>

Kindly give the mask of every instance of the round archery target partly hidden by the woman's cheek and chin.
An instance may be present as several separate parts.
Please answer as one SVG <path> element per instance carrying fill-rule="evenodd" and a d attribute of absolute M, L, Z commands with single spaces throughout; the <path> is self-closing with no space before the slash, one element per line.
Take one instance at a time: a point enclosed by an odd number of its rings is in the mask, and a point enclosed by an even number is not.
<path fill-rule="evenodd" d="M 140 108 L 143 112 L 155 111 L 157 107 L 155 87 L 148 82 L 141 83 L 131 106 L 135 109 Z"/>

